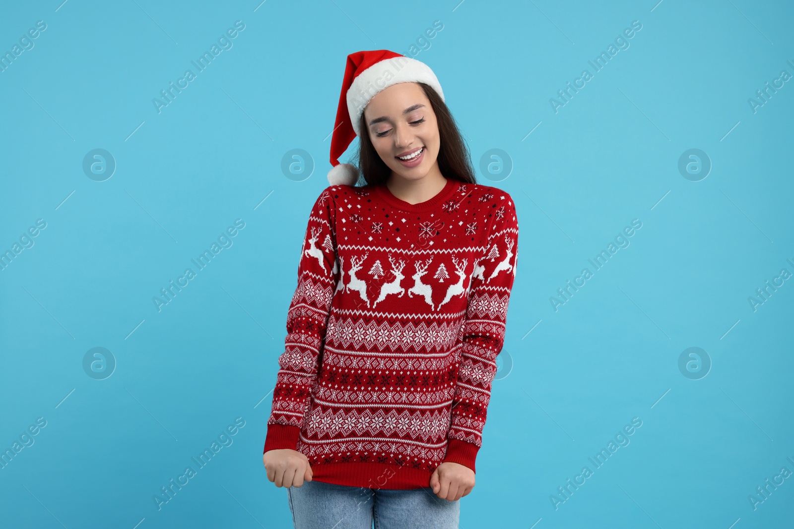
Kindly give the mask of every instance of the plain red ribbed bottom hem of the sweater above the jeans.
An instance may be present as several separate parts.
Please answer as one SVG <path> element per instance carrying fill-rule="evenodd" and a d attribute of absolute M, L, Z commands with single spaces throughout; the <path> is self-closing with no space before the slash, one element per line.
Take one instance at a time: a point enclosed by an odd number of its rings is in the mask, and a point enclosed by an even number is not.
<path fill-rule="evenodd" d="M 323 463 L 311 467 L 312 481 L 366 489 L 422 489 L 430 487 L 432 472 L 385 463 Z"/>

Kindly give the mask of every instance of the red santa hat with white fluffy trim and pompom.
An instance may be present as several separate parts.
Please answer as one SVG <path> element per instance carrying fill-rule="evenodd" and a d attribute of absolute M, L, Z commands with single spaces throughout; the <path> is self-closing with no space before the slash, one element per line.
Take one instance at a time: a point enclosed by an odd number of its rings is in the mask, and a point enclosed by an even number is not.
<path fill-rule="evenodd" d="M 331 136 L 333 168 L 328 172 L 328 182 L 332 186 L 353 186 L 357 182 L 358 169 L 350 163 L 339 163 L 339 157 L 360 134 L 359 121 L 364 107 L 380 90 L 398 82 L 424 82 L 444 101 L 441 84 L 425 63 L 388 50 L 355 52 L 348 56 Z"/>

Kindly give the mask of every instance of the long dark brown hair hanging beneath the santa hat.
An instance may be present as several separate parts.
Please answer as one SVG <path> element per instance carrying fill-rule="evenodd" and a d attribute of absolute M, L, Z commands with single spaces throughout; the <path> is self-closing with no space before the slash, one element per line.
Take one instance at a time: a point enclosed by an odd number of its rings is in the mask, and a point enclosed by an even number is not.
<path fill-rule="evenodd" d="M 430 100 L 430 106 L 436 114 L 438 123 L 438 136 L 441 139 L 441 146 L 438 149 L 438 169 L 445 178 L 460 180 L 470 184 L 476 183 L 476 176 L 472 169 L 472 162 L 469 159 L 468 148 L 461 136 L 461 131 L 457 128 L 452 113 L 445 102 L 441 101 L 437 92 L 424 82 L 417 82 L 422 86 L 425 95 Z M 386 182 L 391 175 L 391 169 L 380 159 L 380 155 L 369 139 L 367 120 L 364 113 L 361 113 L 359 123 L 360 133 L 358 135 L 358 169 L 359 178 L 364 178 L 367 185 L 376 186 Z"/>

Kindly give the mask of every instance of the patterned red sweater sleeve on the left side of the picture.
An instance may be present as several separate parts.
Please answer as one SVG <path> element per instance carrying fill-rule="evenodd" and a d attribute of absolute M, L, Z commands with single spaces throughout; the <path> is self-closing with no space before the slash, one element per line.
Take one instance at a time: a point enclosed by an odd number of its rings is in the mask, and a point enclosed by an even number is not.
<path fill-rule="evenodd" d="M 279 356 L 264 452 L 295 450 L 298 443 L 340 276 L 336 265 L 335 220 L 333 190 L 326 188 L 314 202 L 306 227 L 298 286 L 287 311 L 287 337 L 284 352 Z"/>

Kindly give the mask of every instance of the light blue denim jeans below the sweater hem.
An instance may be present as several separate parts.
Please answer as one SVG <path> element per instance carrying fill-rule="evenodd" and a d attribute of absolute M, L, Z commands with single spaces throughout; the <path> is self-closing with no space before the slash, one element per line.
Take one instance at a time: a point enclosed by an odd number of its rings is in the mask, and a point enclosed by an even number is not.
<path fill-rule="evenodd" d="M 457 529 L 461 500 L 433 489 L 367 489 L 304 481 L 287 489 L 295 529 Z"/>

